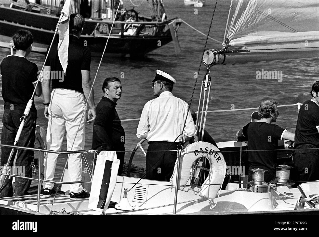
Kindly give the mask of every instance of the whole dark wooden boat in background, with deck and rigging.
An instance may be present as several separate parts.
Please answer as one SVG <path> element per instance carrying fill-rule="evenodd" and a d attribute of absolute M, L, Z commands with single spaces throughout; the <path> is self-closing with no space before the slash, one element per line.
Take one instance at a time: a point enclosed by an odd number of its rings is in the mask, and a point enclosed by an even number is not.
<path fill-rule="evenodd" d="M 0 46 L 9 47 L 11 36 L 19 29 L 31 31 L 34 36 L 33 51 L 45 53 L 50 44 L 59 19 L 60 1 L 41 1 L 42 5 L 25 0 L 0 0 Z M 63 1 L 61 1 L 63 2 Z M 176 52 L 179 43 L 176 32 L 181 24 L 177 18 L 166 20 L 162 0 L 147 0 L 151 17 L 139 16 L 134 9 L 119 13 L 111 31 L 105 52 L 143 56 L 173 40 Z M 46 5 L 44 4 L 46 3 Z M 102 53 L 112 26 L 119 1 L 82 0 L 72 11 L 80 12 L 85 18 L 81 38 L 93 53 Z M 173 37 L 172 37 L 173 35 Z"/>

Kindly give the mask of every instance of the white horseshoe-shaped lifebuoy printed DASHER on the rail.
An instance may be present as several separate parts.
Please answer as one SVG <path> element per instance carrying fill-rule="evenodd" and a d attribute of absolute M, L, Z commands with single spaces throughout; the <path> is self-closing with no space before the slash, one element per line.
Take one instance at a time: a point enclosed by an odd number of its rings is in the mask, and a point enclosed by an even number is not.
<path fill-rule="evenodd" d="M 188 192 L 190 189 L 190 170 L 193 163 L 201 158 L 206 157 L 210 163 L 210 171 L 207 178 L 201 185 L 198 195 L 214 199 L 224 181 L 226 174 L 226 163 L 220 150 L 211 143 L 196 142 L 187 145 L 182 151 L 181 164 L 179 172 L 178 189 Z M 177 160 L 175 162 L 174 173 L 172 176 L 173 185 L 176 183 Z"/>

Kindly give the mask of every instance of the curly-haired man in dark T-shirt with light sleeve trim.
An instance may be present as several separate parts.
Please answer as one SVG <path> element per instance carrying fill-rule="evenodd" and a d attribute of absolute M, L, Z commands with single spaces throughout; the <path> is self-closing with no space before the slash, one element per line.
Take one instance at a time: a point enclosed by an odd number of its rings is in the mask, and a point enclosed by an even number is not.
<path fill-rule="evenodd" d="M 277 102 L 265 100 L 259 105 L 260 121 L 250 122 L 237 132 L 238 138 L 248 139 L 248 150 L 253 150 L 248 153 L 248 181 L 252 180 L 253 172 L 250 170 L 255 168 L 267 170 L 265 182 L 276 178 L 276 169 L 273 166 L 277 164 L 278 140 L 294 141 L 293 133 L 271 124 L 277 121 L 278 115 Z"/>

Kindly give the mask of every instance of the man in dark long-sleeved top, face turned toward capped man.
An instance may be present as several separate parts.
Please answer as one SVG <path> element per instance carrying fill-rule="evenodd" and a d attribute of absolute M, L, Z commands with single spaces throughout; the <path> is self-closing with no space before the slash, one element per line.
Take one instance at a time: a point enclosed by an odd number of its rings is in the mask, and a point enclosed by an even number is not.
<path fill-rule="evenodd" d="M 93 126 L 93 150 L 114 150 L 120 160 L 118 175 L 122 174 L 125 155 L 125 132 L 116 112 L 116 101 L 121 98 L 120 79 L 108 77 L 102 85 L 101 101 L 96 106 L 96 119 Z"/>

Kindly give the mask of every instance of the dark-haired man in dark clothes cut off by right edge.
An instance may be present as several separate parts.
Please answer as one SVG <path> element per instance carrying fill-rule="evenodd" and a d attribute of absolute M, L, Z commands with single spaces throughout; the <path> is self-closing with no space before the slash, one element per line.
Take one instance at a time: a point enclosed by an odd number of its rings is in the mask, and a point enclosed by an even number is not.
<path fill-rule="evenodd" d="M 319 179 L 319 81 L 311 88 L 311 100 L 300 108 L 295 132 L 293 162 L 296 168 L 296 181 Z"/>

